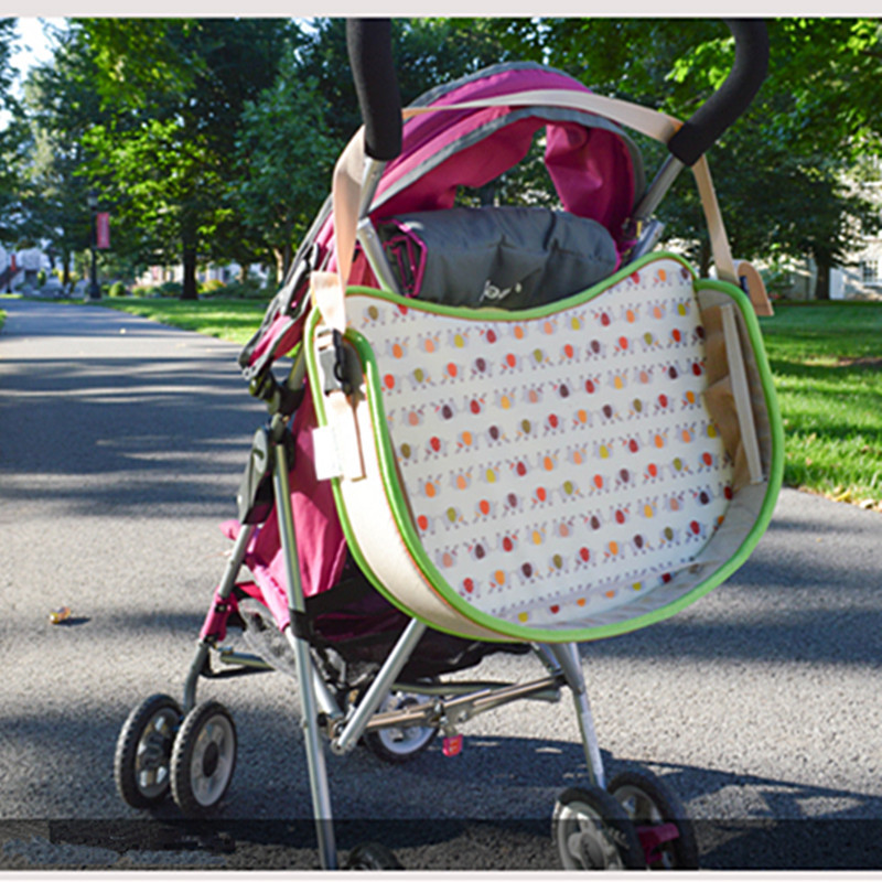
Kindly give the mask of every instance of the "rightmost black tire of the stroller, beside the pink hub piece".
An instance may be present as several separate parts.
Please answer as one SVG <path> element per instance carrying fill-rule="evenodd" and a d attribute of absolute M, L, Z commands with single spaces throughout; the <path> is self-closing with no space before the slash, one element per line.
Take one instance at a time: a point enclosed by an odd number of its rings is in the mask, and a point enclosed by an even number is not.
<path fill-rule="evenodd" d="M 628 770 L 609 784 L 610 793 L 625 809 L 635 828 L 673 824 L 679 836 L 658 847 L 650 870 L 698 870 L 698 840 L 692 821 L 679 797 L 662 778 L 646 770 Z"/>

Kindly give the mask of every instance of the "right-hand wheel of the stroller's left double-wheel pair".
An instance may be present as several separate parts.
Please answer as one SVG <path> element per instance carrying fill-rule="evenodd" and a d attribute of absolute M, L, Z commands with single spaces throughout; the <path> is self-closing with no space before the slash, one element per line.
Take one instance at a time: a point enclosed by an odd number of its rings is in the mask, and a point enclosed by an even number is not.
<path fill-rule="evenodd" d="M 203 701 L 184 717 L 172 747 L 171 787 L 185 817 L 204 817 L 224 798 L 236 747 L 236 727 L 220 702 Z"/>

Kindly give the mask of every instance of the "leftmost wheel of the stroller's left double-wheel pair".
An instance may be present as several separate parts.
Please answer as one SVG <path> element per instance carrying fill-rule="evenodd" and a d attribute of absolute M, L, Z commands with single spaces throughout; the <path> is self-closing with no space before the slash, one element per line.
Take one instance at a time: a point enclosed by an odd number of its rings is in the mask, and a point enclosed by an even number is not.
<path fill-rule="evenodd" d="M 150 808 L 169 795 L 172 744 L 181 716 L 181 706 L 171 696 L 153 695 L 122 724 L 114 752 L 114 781 L 132 808 Z"/>

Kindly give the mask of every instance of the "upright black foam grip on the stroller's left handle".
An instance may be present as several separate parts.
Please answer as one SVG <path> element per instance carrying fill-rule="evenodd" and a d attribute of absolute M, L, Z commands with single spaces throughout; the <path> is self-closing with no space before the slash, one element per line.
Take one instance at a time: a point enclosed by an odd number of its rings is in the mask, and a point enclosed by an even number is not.
<path fill-rule="evenodd" d="M 346 22 L 355 93 L 365 123 L 365 152 L 388 161 L 401 152 L 401 97 L 392 64 L 389 19 Z"/>

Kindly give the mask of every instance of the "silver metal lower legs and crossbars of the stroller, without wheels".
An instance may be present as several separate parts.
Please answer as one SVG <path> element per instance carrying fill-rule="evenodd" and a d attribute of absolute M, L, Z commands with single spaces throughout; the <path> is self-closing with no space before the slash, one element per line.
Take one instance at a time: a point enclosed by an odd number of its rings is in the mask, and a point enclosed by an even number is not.
<path fill-rule="evenodd" d="M 252 451 L 259 451 L 262 455 L 266 452 L 263 441 L 265 439 L 269 440 L 270 474 L 284 552 L 289 587 L 288 603 L 292 612 L 292 623 L 304 623 L 305 601 L 298 568 L 297 537 L 290 502 L 289 460 L 286 449 L 286 439 L 290 434 L 288 424 L 291 413 L 287 412 L 287 408 L 282 408 L 280 402 L 299 400 L 304 378 L 302 362 L 301 353 L 294 362 L 284 386 L 281 389 L 272 389 L 273 394 L 268 396 L 271 409 L 269 424 L 266 435 L 261 437 L 261 441 L 256 442 L 252 448 Z M 292 396 L 292 392 L 297 395 Z M 241 669 L 271 669 L 268 663 L 257 656 L 233 653 L 218 645 L 218 636 L 226 633 L 226 622 L 230 613 L 229 600 L 254 531 L 255 526 L 246 527 L 240 531 L 220 583 L 215 591 L 214 602 L 184 682 L 182 701 L 184 714 L 187 714 L 196 706 L 200 677 L 211 676 L 208 671 L 211 671 L 213 650 L 218 654 L 220 662 L 227 665 L 238 665 Z M 344 754 L 352 751 L 366 732 L 415 727 L 438 728 L 443 730 L 445 735 L 444 753 L 453 755 L 459 752 L 461 745 L 459 727 L 466 721 L 480 713 L 520 699 L 557 702 L 560 700 L 561 688 L 567 686 L 573 698 L 590 783 L 600 789 L 604 789 L 606 786 L 606 776 L 577 644 L 534 644 L 533 650 L 546 667 L 547 675 L 525 684 L 465 681 L 427 685 L 424 682 L 401 682 L 398 680 L 398 675 L 426 630 L 427 626 L 422 622 L 416 619 L 411 620 L 361 701 L 357 704 L 351 704 L 344 711 L 316 669 L 310 652 L 308 626 L 293 624 L 284 628 L 284 637 L 294 654 L 297 665 L 312 807 L 323 869 L 334 870 L 338 867 L 323 738 L 327 739 L 333 753 Z M 383 700 L 392 691 L 421 695 L 427 700 L 400 710 L 377 712 Z M 452 698 L 447 698 L 451 695 Z M 656 838 L 657 831 L 655 831 L 654 842 Z"/>

